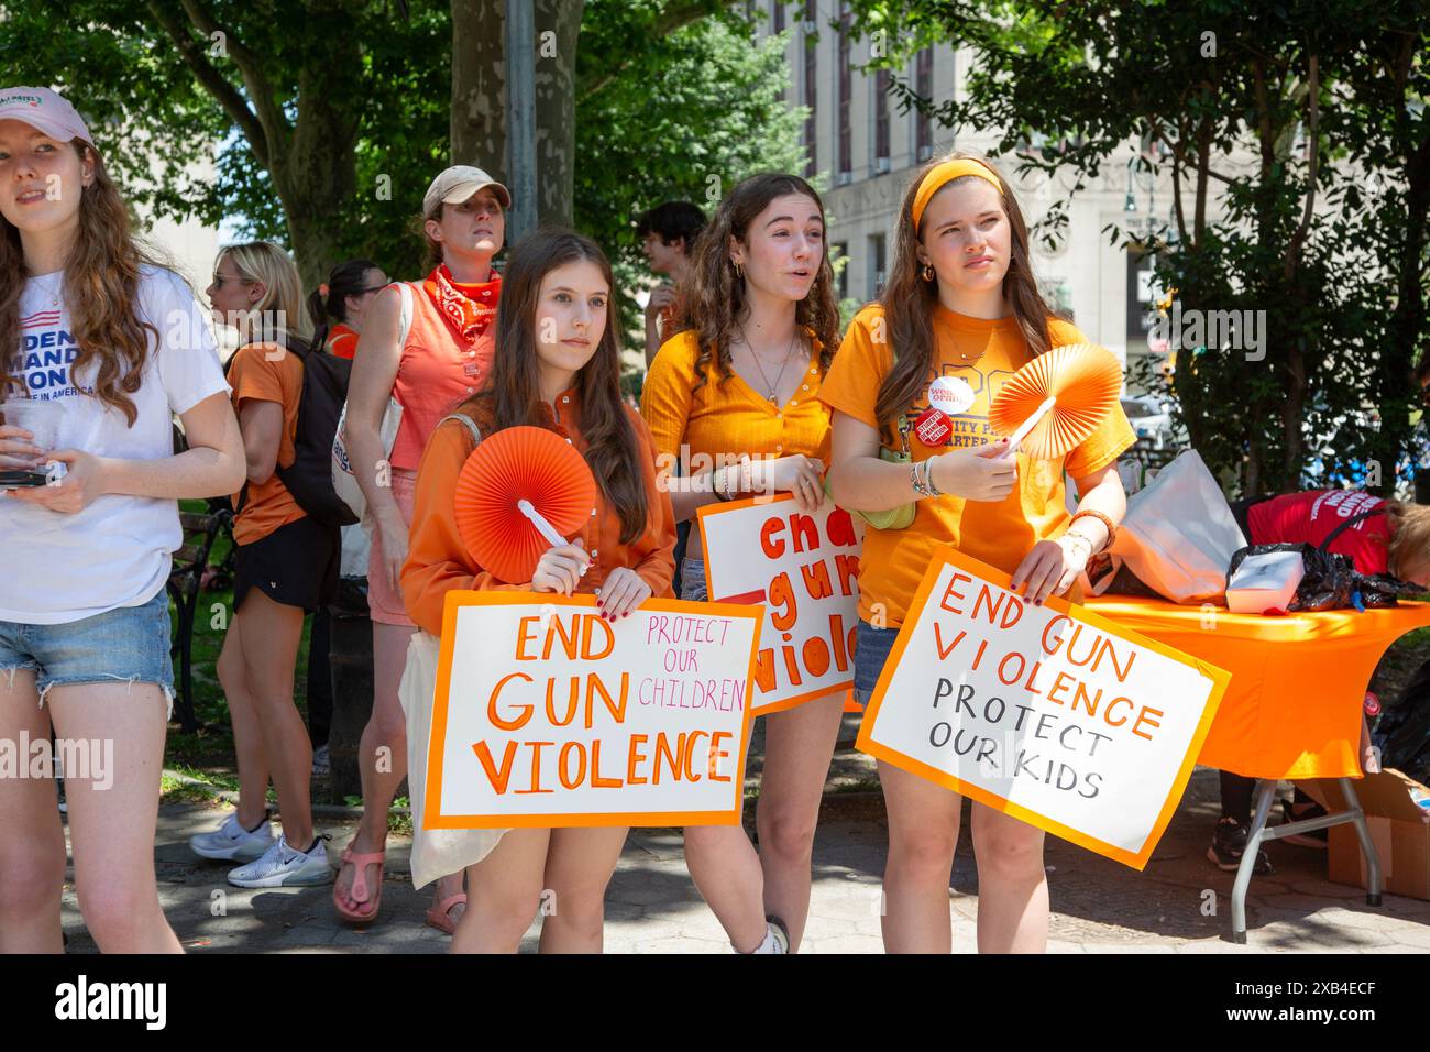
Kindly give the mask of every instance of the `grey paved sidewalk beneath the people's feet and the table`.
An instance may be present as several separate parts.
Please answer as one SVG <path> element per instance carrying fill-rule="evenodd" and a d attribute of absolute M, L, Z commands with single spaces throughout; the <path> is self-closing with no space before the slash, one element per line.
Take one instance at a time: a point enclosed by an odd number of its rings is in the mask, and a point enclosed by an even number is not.
<path fill-rule="evenodd" d="M 862 757 L 861 757 L 862 759 Z M 851 779 L 845 779 L 849 781 Z M 1267 953 L 1430 950 L 1430 902 L 1387 895 L 1383 909 L 1364 893 L 1326 880 L 1324 852 L 1273 843 L 1276 875 L 1257 879 L 1248 897 L 1250 945 L 1220 937 L 1230 929 L 1231 873 L 1205 860 L 1216 822 L 1216 771 L 1198 770 L 1147 870 L 1137 873 L 1048 837 L 1052 900 L 1050 950 L 1058 953 Z M 409 842 L 389 840 L 382 920 L 366 932 L 342 927 L 329 887 L 243 890 L 225 882 L 226 866 L 196 859 L 192 833 L 212 829 L 222 809 L 166 806 L 159 819 L 160 896 L 190 952 L 399 952 L 440 953 L 448 937 L 423 925 L 430 890 L 408 873 Z M 319 819 L 336 859 L 352 823 Z M 884 870 L 884 804 L 877 793 L 825 797 L 815 842 L 814 896 L 804 952 L 879 953 L 879 883 Z M 950 902 L 955 952 L 974 952 L 977 870 L 964 833 Z M 679 830 L 633 830 L 611 883 L 606 950 L 613 953 L 728 953 L 729 943 L 685 870 Z M 223 913 L 216 916 L 220 909 Z M 1204 910 L 1216 909 L 1216 916 Z M 73 887 L 64 896 L 72 952 L 93 952 Z M 536 949 L 532 925 L 523 950 Z"/>

